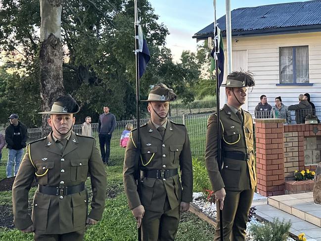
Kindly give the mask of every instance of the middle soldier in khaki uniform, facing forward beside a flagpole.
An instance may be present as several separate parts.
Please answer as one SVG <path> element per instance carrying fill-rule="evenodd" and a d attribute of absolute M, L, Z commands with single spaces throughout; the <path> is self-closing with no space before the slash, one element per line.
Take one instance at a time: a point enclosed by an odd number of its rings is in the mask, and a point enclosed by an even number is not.
<path fill-rule="evenodd" d="M 135 180 L 136 129 L 131 132 L 126 148 L 125 192 L 138 227 L 141 224 L 143 241 L 174 241 L 180 213 L 187 211 L 192 201 L 192 159 L 187 131 L 184 125 L 167 119 L 169 101 L 175 99 L 171 89 L 159 84 L 145 100 L 151 118 L 140 128 L 140 196 Z"/>

